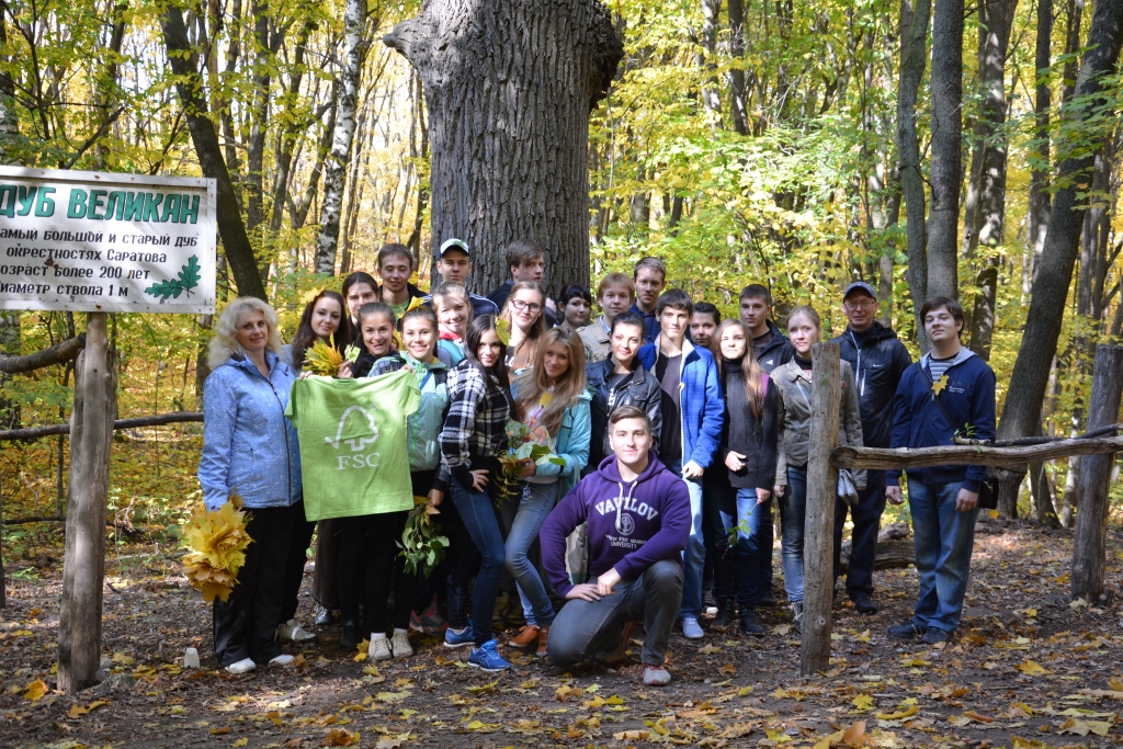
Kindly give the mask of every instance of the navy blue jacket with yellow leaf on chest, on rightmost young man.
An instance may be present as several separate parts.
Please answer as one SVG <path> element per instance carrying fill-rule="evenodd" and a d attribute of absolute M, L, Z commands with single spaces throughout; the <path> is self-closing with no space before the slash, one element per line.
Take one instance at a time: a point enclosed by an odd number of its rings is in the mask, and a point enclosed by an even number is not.
<path fill-rule="evenodd" d="M 951 437 L 958 429 L 966 431 L 973 427 L 976 439 L 994 439 L 995 436 L 995 399 L 994 371 L 986 362 L 964 348 L 959 360 L 948 371 L 948 384 L 935 395 L 932 392 L 931 380 L 925 376 L 930 354 L 920 362 L 910 365 L 897 385 L 897 394 L 893 399 L 893 441 L 892 447 L 935 447 L 951 445 Z M 924 371 L 921 367 L 925 367 Z M 940 405 L 947 411 L 944 418 L 934 398 L 940 399 Z M 922 484 L 961 483 L 962 488 L 979 491 L 979 485 L 986 479 L 986 468 L 983 466 L 939 466 L 935 468 L 910 468 L 909 477 Z M 897 486 L 901 483 L 900 471 L 886 471 L 885 483 Z"/>

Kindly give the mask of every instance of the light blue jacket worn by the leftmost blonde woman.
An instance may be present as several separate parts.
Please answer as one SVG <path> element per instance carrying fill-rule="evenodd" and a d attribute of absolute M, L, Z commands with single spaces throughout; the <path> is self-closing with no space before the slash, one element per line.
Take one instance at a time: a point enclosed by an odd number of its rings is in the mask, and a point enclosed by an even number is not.
<path fill-rule="evenodd" d="M 199 483 L 208 510 L 231 491 L 247 508 L 286 508 L 301 501 L 300 446 L 284 415 L 295 375 L 273 351 L 265 353 L 266 380 L 236 355 L 203 384 L 203 453 Z"/>

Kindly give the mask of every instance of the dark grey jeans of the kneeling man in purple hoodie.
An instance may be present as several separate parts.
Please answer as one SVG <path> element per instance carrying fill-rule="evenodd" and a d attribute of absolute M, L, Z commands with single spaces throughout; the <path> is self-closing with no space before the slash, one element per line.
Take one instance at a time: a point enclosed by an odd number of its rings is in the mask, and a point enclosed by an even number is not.
<path fill-rule="evenodd" d="M 661 666 L 667 657 L 670 629 L 683 597 L 683 566 L 677 560 L 656 561 L 633 581 L 617 585 L 600 601 L 574 599 L 558 612 L 547 642 L 555 666 L 570 666 L 620 645 L 627 622 L 643 622 L 641 660 Z"/>

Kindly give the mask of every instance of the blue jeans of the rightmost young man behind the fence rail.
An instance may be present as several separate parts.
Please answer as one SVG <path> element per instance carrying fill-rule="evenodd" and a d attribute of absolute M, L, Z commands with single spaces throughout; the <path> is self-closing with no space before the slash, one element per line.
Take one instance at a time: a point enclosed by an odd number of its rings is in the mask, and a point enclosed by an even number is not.
<path fill-rule="evenodd" d="M 921 628 L 951 632 L 959 627 L 978 514 L 977 508 L 956 512 L 956 495 L 961 487 L 958 482 L 921 484 L 909 479 L 909 509 L 920 575 L 913 623 Z"/>

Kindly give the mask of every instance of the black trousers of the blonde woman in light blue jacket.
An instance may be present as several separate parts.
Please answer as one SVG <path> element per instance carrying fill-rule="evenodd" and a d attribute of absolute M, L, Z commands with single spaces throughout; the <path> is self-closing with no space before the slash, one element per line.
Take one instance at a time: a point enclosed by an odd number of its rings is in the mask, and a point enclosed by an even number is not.
<path fill-rule="evenodd" d="M 293 526 L 304 522 L 304 505 L 254 508 L 246 532 L 246 561 L 238 584 L 226 601 L 214 599 L 212 622 L 214 655 L 229 666 L 246 658 L 268 663 L 281 655 L 277 620 L 285 596 L 285 570 Z"/>

